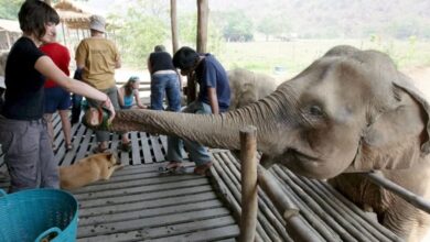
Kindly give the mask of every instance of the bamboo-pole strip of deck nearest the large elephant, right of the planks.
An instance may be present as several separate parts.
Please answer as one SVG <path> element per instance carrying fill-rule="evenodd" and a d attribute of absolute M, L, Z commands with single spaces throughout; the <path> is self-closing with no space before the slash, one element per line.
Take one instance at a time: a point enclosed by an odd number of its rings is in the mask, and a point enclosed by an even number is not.
<path fill-rule="evenodd" d="M 216 161 L 212 168 L 214 183 L 238 219 L 239 161 L 229 151 L 213 151 L 213 154 Z M 300 209 L 300 219 L 320 241 L 401 241 L 327 183 L 294 175 L 278 165 L 272 166 L 269 173 L 278 179 L 283 194 Z M 293 241 L 284 230 L 286 224 L 275 205 L 259 189 L 257 238 L 260 241 Z"/>

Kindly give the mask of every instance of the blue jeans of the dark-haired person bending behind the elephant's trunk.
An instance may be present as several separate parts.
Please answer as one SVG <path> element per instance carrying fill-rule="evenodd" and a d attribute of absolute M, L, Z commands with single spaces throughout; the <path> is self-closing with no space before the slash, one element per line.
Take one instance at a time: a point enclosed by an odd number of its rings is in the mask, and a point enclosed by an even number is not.
<path fill-rule="evenodd" d="M 212 113 L 209 105 L 200 101 L 193 101 L 182 112 L 207 114 Z M 168 161 L 182 162 L 183 161 L 183 147 L 190 153 L 190 160 L 197 166 L 204 165 L 212 161 L 212 157 L 207 151 L 207 147 L 198 144 L 194 141 L 181 140 L 178 136 L 168 136 Z"/>

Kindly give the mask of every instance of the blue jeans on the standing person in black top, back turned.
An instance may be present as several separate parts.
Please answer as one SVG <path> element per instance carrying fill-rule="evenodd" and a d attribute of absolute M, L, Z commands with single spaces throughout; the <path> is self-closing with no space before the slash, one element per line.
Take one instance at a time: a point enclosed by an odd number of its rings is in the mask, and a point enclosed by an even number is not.
<path fill-rule="evenodd" d="M 168 111 L 181 110 L 181 91 L 176 74 L 153 74 L 151 76 L 151 109 L 163 110 L 164 94 L 168 98 Z"/>

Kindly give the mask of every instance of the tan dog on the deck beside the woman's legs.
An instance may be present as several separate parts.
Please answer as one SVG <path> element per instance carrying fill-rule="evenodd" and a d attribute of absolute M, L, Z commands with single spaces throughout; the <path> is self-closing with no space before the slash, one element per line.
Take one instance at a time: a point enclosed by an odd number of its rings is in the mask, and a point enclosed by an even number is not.
<path fill-rule="evenodd" d="M 60 167 L 62 189 L 76 189 L 97 180 L 107 180 L 115 170 L 122 168 L 114 153 L 100 153 L 79 160 L 77 163 Z"/>

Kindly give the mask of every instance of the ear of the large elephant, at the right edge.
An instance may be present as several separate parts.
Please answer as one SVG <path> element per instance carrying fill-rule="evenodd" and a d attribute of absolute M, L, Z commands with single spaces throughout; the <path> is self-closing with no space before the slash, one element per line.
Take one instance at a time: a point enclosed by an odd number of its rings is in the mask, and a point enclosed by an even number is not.
<path fill-rule="evenodd" d="M 409 168 L 430 153 L 429 103 L 408 77 L 398 77 L 390 100 L 370 114 L 348 172 Z"/>

